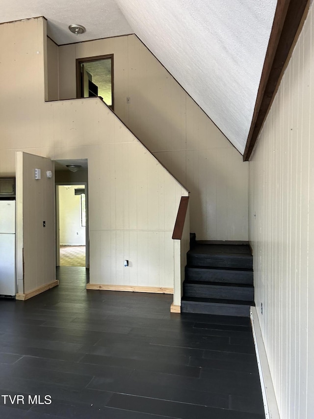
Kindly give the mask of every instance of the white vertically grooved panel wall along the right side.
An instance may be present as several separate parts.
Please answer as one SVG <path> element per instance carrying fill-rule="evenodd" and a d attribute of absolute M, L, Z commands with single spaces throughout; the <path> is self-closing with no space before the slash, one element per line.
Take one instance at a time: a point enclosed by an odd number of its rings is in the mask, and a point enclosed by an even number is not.
<path fill-rule="evenodd" d="M 313 19 L 312 6 L 249 163 L 255 301 L 282 419 L 314 418 Z"/>

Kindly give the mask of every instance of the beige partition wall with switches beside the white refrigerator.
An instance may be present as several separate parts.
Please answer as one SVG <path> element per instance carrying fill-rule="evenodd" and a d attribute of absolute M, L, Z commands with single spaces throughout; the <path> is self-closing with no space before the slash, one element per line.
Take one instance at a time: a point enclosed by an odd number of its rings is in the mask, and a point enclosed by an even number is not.
<path fill-rule="evenodd" d="M 17 284 L 26 294 L 55 283 L 54 164 L 18 151 L 16 173 Z"/>

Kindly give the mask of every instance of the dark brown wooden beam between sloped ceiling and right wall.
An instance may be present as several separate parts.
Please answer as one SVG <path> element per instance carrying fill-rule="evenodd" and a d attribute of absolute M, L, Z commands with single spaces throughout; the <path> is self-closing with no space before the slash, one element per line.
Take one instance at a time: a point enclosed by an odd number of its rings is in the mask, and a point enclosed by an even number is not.
<path fill-rule="evenodd" d="M 308 8 L 309 0 L 278 0 L 277 2 L 243 161 L 248 161 L 251 156 L 276 93 L 276 87 L 289 57 L 294 38 Z"/>

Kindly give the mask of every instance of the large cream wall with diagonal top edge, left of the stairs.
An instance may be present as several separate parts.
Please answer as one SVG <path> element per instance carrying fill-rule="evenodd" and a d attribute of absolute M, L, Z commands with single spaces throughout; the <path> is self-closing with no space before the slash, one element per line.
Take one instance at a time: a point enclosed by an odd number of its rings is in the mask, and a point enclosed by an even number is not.
<path fill-rule="evenodd" d="M 0 172 L 15 172 L 16 150 L 87 158 L 90 282 L 173 287 L 172 230 L 187 191 L 100 99 L 44 102 L 45 28 L 43 18 L 0 25 Z"/>

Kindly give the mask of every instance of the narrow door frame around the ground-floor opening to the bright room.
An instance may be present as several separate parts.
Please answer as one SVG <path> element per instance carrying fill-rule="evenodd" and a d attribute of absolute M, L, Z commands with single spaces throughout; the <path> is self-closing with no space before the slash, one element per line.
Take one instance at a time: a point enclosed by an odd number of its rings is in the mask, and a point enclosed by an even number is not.
<path fill-rule="evenodd" d="M 60 266 L 60 220 L 59 220 L 59 186 L 84 185 L 86 205 L 85 226 L 85 268 L 89 268 L 89 211 L 88 211 L 88 182 L 56 182 L 55 183 L 55 265 Z"/>

